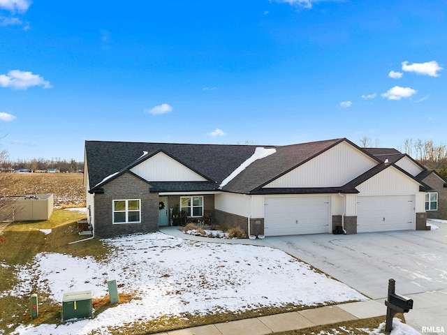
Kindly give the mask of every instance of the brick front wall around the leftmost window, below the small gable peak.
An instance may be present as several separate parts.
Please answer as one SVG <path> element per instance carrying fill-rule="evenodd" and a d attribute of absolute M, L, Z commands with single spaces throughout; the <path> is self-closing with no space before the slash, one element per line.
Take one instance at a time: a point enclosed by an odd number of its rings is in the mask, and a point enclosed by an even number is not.
<path fill-rule="evenodd" d="M 159 194 L 149 193 L 149 185 L 133 176 L 123 174 L 105 184 L 104 193 L 96 193 L 94 231 L 97 237 L 113 237 L 135 232 L 154 232 L 159 228 Z M 140 199 L 141 223 L 113 224 L 112 200 Z"/>

